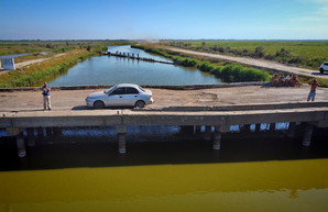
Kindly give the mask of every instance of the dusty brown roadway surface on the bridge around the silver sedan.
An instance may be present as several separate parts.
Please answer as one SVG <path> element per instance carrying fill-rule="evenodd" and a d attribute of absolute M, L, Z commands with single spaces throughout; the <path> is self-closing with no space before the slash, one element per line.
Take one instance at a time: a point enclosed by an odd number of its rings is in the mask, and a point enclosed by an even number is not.
<path fill-rule="evenodd" d="M 308 86 L 299 88 L 243 86 L 199 90 L 154 89 L 155 102 L 146 105 L 150 109 L 165 107 L 215 107 L 231 104 L 263 104 L 306 102 Z M 53 110 L 89 110 L 85 98 L 88 93 L 105 89 L 54 90 L 52 91 Z M 328 101 L 328 89 L 319 88 L 316 102 Z M 0 92 L 0 112 L 37 111 L 43 109 L 41 91 Z"/>

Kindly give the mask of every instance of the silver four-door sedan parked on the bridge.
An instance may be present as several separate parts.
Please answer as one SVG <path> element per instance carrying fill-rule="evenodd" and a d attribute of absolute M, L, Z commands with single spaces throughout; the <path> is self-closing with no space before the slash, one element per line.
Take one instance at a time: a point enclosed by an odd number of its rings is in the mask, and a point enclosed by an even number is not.
<path fill-rule="evenodd" d="M 95 109 L 106 107 L 144 108 L 153 102 L 152 91 L 134 83 L 119 83 L 106 91 L 92 92 L 86 99 L 87 107 Z"/>

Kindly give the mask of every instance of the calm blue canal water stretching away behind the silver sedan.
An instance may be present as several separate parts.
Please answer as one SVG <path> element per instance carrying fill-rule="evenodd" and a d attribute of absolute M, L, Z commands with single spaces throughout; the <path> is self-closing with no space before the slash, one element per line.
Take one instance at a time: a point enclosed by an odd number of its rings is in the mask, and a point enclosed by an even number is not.
<path fill-rule="evenodd" d="M 121 52 L 167 62 L 130 45 L 109 47 L 111 53 Z M 184 68 L 168 64 L 139 62 L 114 56 L 96 56 L 75 67 L 67 74 L 54 79 L 51 86 L 116 85 L 131 82 L 149 86 L 177 86 L 197 83 L 221 83 L 212 75 L 198 69 Z"/>

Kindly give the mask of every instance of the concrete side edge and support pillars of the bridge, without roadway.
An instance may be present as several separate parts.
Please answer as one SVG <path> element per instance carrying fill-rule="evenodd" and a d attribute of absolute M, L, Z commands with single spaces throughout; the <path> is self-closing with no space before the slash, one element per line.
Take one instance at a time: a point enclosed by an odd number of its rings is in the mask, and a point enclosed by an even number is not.
<path fill-rule="evenodd" d="M 230 132 L 231 125 L 250 127 L 251 124 L 255 124 L 255 131 L 260 131 L 263 123 L 269 123 L 273 131 L 276 123 L 289 123 L 286 133 L 288 136 L 295 136 L 296 125 L 303 124 L 305 126 L 300 135 L 303 145 L 309 146 L 314 127 L 328 127 L 328 102 L 7 112 L 0 118 L 0 127 L 15 136 L 19 157 L 26 156 L 25 141 L 28 145 L 35 145 L 34 131 L 42 134 L 42 132 L 55 132 L 61 127 L 70 126 L 114 126 L 119 143 L 118 150 L 124 154 L 127 153 L 127 126 L 130 125 L 177 125 L 194 129 L 203 126 L 205 138 L 212 140 L 212 148 L 219 150 L 222 135 Z"/>

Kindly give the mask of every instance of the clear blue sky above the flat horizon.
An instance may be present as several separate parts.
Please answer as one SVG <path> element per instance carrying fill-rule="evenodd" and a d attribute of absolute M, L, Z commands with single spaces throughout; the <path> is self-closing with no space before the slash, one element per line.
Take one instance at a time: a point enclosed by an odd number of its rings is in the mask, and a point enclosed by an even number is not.
<path fill-rule="evenodd" d="M 328 40 L 328 0 L 0 0 L 0 40 Z"/>

